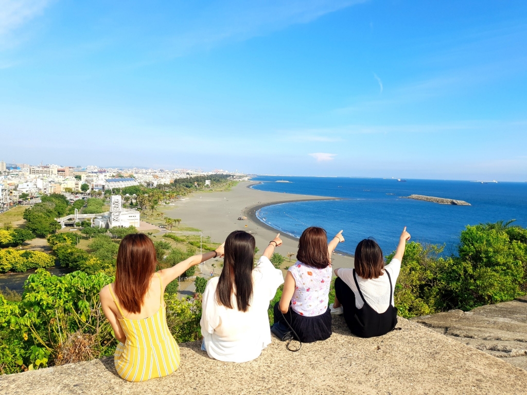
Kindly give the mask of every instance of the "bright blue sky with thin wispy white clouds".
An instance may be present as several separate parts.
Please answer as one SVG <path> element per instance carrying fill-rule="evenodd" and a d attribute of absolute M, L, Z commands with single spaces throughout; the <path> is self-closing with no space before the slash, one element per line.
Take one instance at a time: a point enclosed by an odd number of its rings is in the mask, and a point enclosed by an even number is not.
<path fill-rule="evenodd" d="M 527 181 L 527 2 L 0 0 L 0 160 Z"/>

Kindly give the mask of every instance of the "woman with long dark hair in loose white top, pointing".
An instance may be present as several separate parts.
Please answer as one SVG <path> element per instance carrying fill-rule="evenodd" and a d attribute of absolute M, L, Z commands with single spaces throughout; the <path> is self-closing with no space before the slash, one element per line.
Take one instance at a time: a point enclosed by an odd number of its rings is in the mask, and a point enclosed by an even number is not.
<path fill-rule="evenodd" d="M 284 282 L 282 272 L 269 261 L 280 234 L 272 240 L 257 265 L 255 238 L 244 231 L 229 234 L 221 275 L 207 283 L 201 315 L 202 350 L 226 362 L 257 358 L 271 343 L 267 309 Z"/>

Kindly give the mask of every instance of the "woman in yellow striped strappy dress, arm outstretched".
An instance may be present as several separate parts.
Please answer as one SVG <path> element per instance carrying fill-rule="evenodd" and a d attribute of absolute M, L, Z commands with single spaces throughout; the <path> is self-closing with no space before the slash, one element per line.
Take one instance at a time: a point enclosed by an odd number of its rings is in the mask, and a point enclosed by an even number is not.
<path fill-rule="evenodd" d="M 119 340 L 114 354 L 119 376 L 127 381 L 145 381 L 179 368 L 179 347 L 167 326 L 164 289 L 191 266 L 222 254 L 223 245 L 156 273 L 152 240 L 142 233 L 123 238 L 117 253 L 115 282 L 100 293 L 104 315 Z"/>

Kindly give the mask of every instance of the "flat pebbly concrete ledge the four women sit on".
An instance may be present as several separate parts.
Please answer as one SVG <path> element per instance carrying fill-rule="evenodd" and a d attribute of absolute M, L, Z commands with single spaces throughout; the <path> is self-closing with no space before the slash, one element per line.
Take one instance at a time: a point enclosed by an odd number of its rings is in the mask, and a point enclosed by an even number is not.
<path fill-rule="evenodd" d="M 0 393 L 43 394 L 518 394 L 527 372 L 422 325 L 399 318 L 401 331 L 380 338 L 350 334 L 334 317 L 324 342 L 289 352 L 272 344 L 254 361 L 208 358 L 200 342 L 181 344 L 182 366 L 168 377 L 142 383 L 122 380 L 111 358 L 0 377 Z M 337 374 L 333 374 L 337 372 Z"/>

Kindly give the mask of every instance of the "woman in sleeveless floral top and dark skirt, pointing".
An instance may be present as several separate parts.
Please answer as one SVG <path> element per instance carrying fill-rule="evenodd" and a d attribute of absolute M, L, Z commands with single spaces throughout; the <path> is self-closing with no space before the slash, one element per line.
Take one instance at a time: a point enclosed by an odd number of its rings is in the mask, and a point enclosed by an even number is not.
<path fill-rule="evenodd" d="M 330 256 L 341 241 L 344 241 L 342 231 L 327 244 L 326 231 L 315 226 L 300 236 L 298 261 L 287 271 L 284 292 L 275 304 L 274 316 L 275 322 L 289 323 L 301 342 L 326 340 L 331 336 Z"/>

